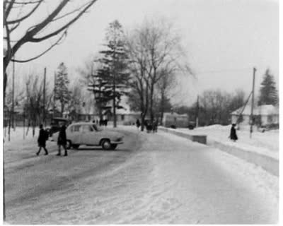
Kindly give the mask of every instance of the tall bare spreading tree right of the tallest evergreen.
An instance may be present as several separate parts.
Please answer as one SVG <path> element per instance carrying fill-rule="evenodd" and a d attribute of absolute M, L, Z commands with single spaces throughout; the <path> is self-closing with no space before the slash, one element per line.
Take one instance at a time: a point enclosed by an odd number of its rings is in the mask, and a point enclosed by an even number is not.
<path fill-rule="evenodd" d="M 190 75 L 192 71 L 184 60 L 186 54 L 181 47 L 180 36 L 168 20 L 145 21 L 130 33 L 127 40 L 133 71 L 132 87 L 140 93 L 141 112 L 146 114 L 148 108 L 152 123 L 156 84 L 166 75 L 164 71 L 170 72 L 170 75 Z M 143 100 L 144 97 L 146 100 Z"/>

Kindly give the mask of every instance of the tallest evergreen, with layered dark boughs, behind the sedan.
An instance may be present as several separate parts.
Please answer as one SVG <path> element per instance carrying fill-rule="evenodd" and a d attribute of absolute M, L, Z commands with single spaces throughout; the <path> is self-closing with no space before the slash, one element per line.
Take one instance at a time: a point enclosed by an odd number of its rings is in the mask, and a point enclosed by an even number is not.
<path fill-rule="evenodd" d="M 106 49 L 100 52 L 103 55 L 100 58 L 100 62 L 103 63 L 103 73 L 100 75 L 107 84 L 105 89 L 108 90 L 108 97 L 112 100 L 114 127 L 116 127 L 116 108 L 119 107 L 121 96 L 127 93 L 125 90 L 129 81 L 125 38 L 122 25 L 117 20 L 110 23 L 106 40 Z"/>

